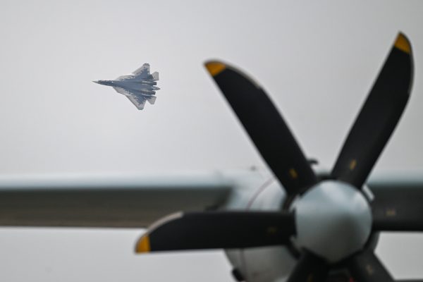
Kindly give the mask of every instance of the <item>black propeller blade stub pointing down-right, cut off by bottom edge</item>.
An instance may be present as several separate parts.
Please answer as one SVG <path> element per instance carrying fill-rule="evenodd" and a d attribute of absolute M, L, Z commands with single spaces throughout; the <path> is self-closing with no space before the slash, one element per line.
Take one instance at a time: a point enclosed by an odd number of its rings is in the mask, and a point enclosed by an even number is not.
<path fill-rule="evenodd" d="M 374 255 L 366 250 L 348 259 L 348 270 L 355 281 L 360 282 L 394 282 L 391 274 Z"/>

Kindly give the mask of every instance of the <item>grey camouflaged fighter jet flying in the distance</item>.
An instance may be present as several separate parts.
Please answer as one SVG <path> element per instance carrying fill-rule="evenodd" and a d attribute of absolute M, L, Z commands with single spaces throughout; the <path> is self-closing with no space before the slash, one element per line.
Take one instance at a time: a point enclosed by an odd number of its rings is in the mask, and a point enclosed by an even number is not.
<path fill-rule="evenodd" d="M 118 93 L 128 97 L 137 109 L 142 110 L 145 101 L 148 101 L 149 104 L 156 102 L 155 94 L 160 89 L 155 86 L 157 80 L 159 80 L 159 73 L 150 74 L 149 63 L 145 63 L 133 73 L 119 76 L 116 80 L 94 80 L 93 82 L 114 87 Z"/>

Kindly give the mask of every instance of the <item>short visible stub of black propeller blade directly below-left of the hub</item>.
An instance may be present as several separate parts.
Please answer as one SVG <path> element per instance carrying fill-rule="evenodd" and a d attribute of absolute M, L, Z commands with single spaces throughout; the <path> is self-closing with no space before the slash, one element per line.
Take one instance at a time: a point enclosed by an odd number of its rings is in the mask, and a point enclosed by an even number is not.
<path fill-rule="evenodd" d="M 324 259 L 305 251 L 287 282 L 324 282 L 328 276 L 329 266 Z"/>

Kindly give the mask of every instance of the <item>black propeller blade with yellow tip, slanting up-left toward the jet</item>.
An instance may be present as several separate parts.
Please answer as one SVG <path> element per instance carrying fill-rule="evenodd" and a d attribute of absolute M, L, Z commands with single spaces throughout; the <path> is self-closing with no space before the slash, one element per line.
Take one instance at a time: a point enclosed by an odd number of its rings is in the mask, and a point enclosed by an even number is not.
<path fill-rule="evenodd" d="M 205 66 L 288 195 L 314 185 L 312 168 L 264 90 L 225 63 L 209 61 Z"/>

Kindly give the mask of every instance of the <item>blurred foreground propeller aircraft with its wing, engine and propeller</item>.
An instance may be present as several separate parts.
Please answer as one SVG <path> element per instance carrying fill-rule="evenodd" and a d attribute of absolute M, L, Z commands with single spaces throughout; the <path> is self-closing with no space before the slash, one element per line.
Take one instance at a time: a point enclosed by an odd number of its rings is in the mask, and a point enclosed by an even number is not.
<path fill-rule="evenodd" d="M 3 179 L 0 225 L 150 226 L 135 252 L 224 249 L 238 281 L 394 282 L 374 248 L 380 232 L 423 231 L 423 178 L 368 178 L 407 104 L 412 61 L 400 33 L 330 172 L 307 161 L 256 82 L 209 61 L 274 177 Z"/>

